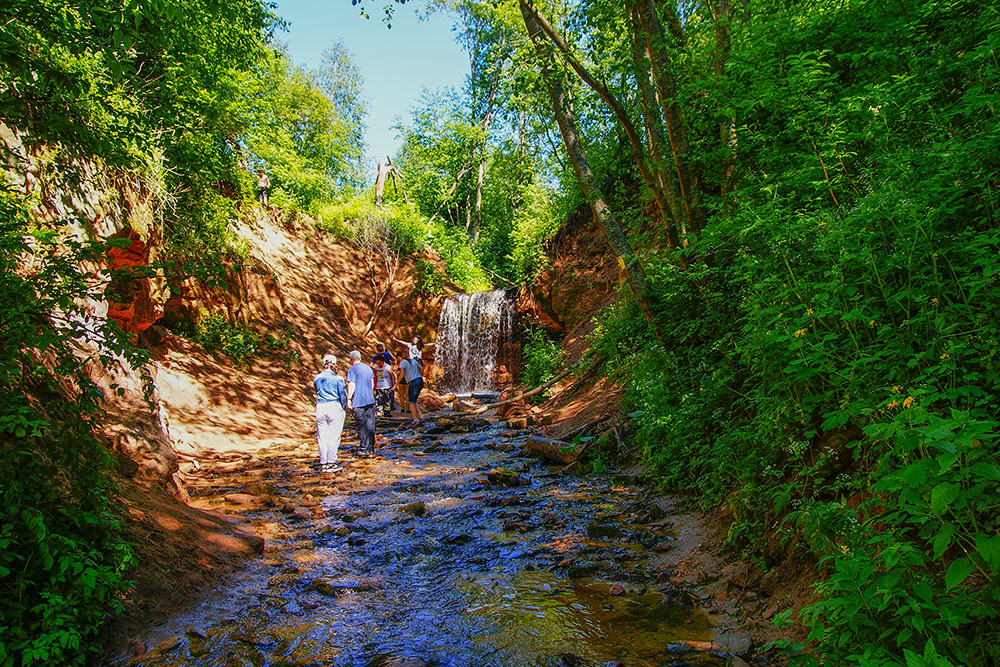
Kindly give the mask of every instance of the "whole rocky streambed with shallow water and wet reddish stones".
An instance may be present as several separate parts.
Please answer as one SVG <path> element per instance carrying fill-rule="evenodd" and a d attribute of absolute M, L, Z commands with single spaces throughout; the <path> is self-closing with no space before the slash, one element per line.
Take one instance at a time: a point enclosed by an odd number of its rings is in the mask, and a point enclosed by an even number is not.
<path fill-rule="evenodd" d="M 314 443 L 195 473 L 263 556 L 106 664 L 723 665 L 767 588 L 703 548 L 671 498 L 528 456 L 468 416 L 383 428 L 378 456 L 316 471 Z M 742 590 L 734 590 L 742 579 Z M 756 591 L 756 592 L 755 592 Z M 773 612 L 772 612 L 773 613 Z M 758 658 L 758 662 L 762 659 Z"/>

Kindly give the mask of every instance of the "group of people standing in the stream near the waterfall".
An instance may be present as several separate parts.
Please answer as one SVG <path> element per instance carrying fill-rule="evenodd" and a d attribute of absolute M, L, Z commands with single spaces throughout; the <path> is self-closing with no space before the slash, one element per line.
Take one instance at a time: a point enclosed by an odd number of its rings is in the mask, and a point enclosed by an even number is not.
<path fill-rule="evenodd" d="M 409 425 L 420 420 L 417 400 L 424 388 L 423 349 L 420 336 L 411 342 L 393 338 L 403 345 L 393 356 L 385 345 L 378 343 L 370 365 L 361 361 L 361 352 L 351 350 L 351 365 L 346 376 L 337 373 L 337 357 L 323 357 L 323 370 L 313 378 L 316 390 L 316 440 L 319 445 L 321 472 L 337 472 L 340 438 L 344 420 L 350 410 L 358 429 L 358 456 L 375 453 L 375 417 L 388 416 L 395 409 L 395 394 L 399 393 L 400 409 L 413 417 Z M 398 364 L 396 360 L 399 360 Z"/>

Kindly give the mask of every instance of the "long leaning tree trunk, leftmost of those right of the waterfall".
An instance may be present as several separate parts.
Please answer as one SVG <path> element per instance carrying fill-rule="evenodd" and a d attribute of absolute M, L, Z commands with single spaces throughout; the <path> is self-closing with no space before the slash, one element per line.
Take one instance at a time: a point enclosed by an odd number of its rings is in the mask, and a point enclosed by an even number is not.
<path fill-rule="evenodd" d="M 590 169 L 590 162 L 587 159 L 587 154 L 583 149 L 580 135 L 576 129 L 576 118 L 569 106 L 569 100 L 566 98 L 566 90 L 563 85 L 561 72 L 556 67 L 551 47 L 545 40 L 544 33 L 535 19 L 536 14 L 528 8 L 525 0 L 521 0 L 520 5 L 521 16 L 524 19 L 525 27 L 528 29 L 528 36 L 531 38 L 531 42 L 538 52 L 542 77 L 548 86 L 556 122 L 559 125 L 559 132 L 562 134 L 570 163 L 573 165 L 573 171 L 576 174 L 577 181 L 580 183 L 580 189 L 590 204 L 590 208 L 594 212 L 594 217 L 604 231 L 604 237 L 608 240 L 608 244 L 618 259 L 618 266 L 625 273 L 625 279 L 635 294 L 643 317 L 646 318 L 646 322 L 649 324 L 649 328 L 653 334 L 662 343 L 664 338 L 654 317 L 656 297 L 649 284 L 649 279 L 646 277 L 645 270 L 636 258 L 632 250 L 632 245 L 625 236 L 625 232 L 608 207 L 604 193 L 597 185 L 594 173 Z"/>

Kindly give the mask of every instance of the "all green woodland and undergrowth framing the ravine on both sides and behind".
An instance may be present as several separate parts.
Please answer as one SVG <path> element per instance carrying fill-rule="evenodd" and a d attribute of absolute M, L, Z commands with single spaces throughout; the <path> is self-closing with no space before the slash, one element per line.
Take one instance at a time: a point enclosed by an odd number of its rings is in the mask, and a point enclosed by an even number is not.
<path fill-rule="evenodd" d="M 400 127 L 380 207 L 350 54 L 296 66 L 269 5 L 0 7 L 0 121 L 48 161 L 0 184 L 0 663 L 83 661 L 127 583 L 74 339 L 143 352 L 80 306 L 108 242 L 36 215 L 94 165 L 154 200 L 149 270 L 205 280 L 246 255 L 258 167 L 337 239 L 435 248 L 425 292 L 530 282 L 590 209 L 627 277 L 592 349 L 643 462 L 733 549 L 816 559 L 795 659 L 1000 661 L 997 3 L 427 6 L 470 73 Z"/>

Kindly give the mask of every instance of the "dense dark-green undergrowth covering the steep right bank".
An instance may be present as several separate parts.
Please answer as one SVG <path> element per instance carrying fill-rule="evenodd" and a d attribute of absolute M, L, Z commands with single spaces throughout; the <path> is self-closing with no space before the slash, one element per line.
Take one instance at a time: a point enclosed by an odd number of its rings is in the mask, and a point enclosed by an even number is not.
<path fill-rule="evenodd" d="M 665 487 L 727 504 L 733 547 L 820 559 L 800 620 L 825 664 L 994 664 L 1000 15 L 763 9 L 685 91 L 708 178 L 728 158 L 699 105 L 736 121 L 739 187 L 689 251 L 711 262 L 650 249 L 663 345 L 626 302 L 594 347 Z M 685 66 L 711 63 L 689 35 Z"/>

